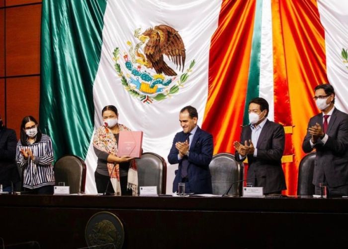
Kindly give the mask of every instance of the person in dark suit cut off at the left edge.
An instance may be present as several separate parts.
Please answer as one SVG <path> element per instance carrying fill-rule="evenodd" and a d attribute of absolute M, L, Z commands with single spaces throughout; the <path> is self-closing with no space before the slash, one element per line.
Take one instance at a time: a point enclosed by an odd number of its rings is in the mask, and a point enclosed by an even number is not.
<path fill-rule="evenodd" d="M 13 185 L 19 181 L 19 174 L 14 158 L 16 156 L 17 137 L 13 129 L 2 124 L 0 117 L 0 184 L 3 191 L 12 191 Z"/>

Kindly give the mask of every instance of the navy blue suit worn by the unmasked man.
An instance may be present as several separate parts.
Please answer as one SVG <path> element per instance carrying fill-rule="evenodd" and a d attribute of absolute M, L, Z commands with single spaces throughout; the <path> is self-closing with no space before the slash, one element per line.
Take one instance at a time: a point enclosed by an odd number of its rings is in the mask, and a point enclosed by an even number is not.
<path fill-rule="evenodd" d="M 178 183 L 182 181 L 181 177 L 181 161 L 178 160 L 179 151 L 175 148 L 176 142 L 184 142 L 186 134 L 181 131 L 175 134 L 171 151 L 168 155 L 170 164 L 179 164 L 178 170 L 175 171 L 173 182 L 173 192 L 177 191 Z M 195 194 L 211 194 L 211 175 L 209 163 L 213 157 L 213 136 L 208 132 L 197 127 L 196 132 L 191 141 L 188 156 L 187 178 L 185 183 L 186 193 Z"/>

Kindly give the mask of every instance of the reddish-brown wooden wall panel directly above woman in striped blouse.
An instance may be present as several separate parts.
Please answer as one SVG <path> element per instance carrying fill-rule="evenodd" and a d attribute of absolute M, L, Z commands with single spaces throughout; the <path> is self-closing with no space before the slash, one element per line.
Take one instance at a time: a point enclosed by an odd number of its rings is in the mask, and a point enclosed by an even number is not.
<path fill-rule="evenodd" d="M 16 130 L 25 116 L 39 120 L 40 77 L 8 78 L 6 84 L 7 127 Z"/>

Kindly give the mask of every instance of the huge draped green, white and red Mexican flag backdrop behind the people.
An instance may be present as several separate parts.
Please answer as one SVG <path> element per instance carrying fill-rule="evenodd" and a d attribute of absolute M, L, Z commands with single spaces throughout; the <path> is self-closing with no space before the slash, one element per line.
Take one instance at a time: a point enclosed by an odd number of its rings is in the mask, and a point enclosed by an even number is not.
<path fill-rule="evenodd" d="M 248 102 L 265 98 L 268 119 L 285 127 L 292 195 L 307 122 L 319 112 L 313 88 L 332 84 L 348 112 L 346 1 L 45 0 L 41 25 L 40 126 L 56 159 L 86 160 L 87 193 L 96 192 L 91 142 L 106 105 L 144 132 L 145 152 L 167 158 L 182 107 L 196 107 L 214 153 L 234 153 Z"/>

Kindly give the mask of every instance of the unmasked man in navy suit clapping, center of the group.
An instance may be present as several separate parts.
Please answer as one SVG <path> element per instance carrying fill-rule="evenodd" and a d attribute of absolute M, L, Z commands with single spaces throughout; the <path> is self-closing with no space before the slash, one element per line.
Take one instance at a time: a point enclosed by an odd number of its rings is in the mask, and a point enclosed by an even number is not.
<path fill-rule="evenodd" d="M 179 121 L 183 131 L 175 134 L 168 155 L 169 163 L 179 164 L 173 192 L 177 192 L 178 183 L 182 182 L 185 193 L 211 194 L 209 163 L 213 157 L 213 136 L 198 127 L 198 113 L 194 107 L 182 108 Z"/>

